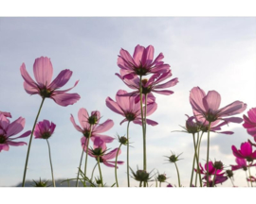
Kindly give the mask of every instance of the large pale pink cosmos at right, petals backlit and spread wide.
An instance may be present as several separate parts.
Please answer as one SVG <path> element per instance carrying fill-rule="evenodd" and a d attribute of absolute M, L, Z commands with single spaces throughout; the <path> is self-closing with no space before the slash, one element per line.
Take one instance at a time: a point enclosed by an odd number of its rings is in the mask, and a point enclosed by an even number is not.
<path fill-rule="evenodd" d="M 247 104 L 242 101 L 235 101 L 228 106 L 219 109 L 221 96 L 216 91 L 210 91 L 206 93 L 199 87 L 192 88 L 190 94 L 190 102 L 192 105 L 193 114 L 196 120 L 205 123 L 215 122 L 215 125 L 219 123 L 220 120 L 224 120 L 229 123 L 241 123 L 242 118 L 239 117 L 229 117 L 227 116 L 239 114 L 247 109 Z"/>

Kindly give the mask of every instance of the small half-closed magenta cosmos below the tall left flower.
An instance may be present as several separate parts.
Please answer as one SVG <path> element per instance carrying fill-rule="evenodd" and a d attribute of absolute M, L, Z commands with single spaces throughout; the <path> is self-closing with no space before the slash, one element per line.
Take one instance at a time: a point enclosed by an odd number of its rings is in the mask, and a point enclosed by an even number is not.
<path fill-rule="evenodd" d="M 54 132 L 56 125 L 48 120 L 38 122 L 35 130 L 35 139 L 48 139 Z"/>

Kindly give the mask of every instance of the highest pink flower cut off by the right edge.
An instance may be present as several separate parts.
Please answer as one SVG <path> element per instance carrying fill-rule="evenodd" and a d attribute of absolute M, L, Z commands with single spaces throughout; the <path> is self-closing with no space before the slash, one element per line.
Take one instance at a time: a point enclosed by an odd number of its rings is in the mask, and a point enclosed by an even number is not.
<path fill-rule="evenodd" d="M 247 133 L 254 137 L 256 141 L 256 108 L 252 108 L 247 111 L 247 115 L 244 115 L 243 127 L 247 128 Z"/>

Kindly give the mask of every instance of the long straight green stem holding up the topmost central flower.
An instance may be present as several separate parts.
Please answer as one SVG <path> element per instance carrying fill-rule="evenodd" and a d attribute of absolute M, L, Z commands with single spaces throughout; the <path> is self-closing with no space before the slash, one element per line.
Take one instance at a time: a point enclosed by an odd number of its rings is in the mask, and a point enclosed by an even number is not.
<path fill-rule="evenodd" d="M 139 77 L 139 97 L 140 97 L 140 114 L 141 114 L 142 134 L 143 134 L 143 170 L 147 171 L 146 134 L 145 134 L 144 119 L 143 119 L 143 101 L 142 101 L 142 76 Z M 146 187 L 146 182 L 143 183 L 143 186 Z"/>

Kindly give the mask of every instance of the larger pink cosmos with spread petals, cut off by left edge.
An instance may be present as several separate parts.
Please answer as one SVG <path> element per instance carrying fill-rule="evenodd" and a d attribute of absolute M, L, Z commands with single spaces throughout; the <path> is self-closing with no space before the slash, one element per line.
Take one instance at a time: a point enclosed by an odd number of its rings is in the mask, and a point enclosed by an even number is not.
<path fill-rule="evenodd" d="M 2 150 L 8 151 L 9 145 L 19 146 L 27 144 L 25 142 L 13 142 L 18 138 L 24 138 L 31 134 L 31 131 L 23 133 L 21 136 L 12 137 L 15 134 L 18 134 L 25 127 L 25 118 L 19 117 L 17 120 L 9 123 L 9 119 L 0 113 L 0 152 Z"/>

